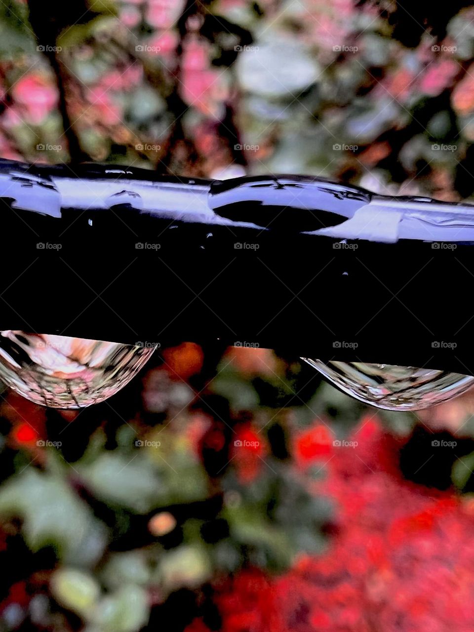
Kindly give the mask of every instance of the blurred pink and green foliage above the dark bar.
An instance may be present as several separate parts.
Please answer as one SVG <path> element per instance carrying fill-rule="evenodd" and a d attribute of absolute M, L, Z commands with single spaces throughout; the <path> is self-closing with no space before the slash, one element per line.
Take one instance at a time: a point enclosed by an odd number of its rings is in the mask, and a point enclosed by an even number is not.
<path fill-rule="evenodd" d="M 0 150 L 469 197 L 473 8 L 462 5 L 441 19 L 352 0 L 9 0 Z"/>

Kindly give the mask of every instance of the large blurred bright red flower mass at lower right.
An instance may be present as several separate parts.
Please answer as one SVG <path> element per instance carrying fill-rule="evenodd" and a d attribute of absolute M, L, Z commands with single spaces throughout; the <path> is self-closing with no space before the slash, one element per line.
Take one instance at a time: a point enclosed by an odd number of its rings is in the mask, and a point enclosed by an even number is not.
<path fill-rule="evenodd" d="M 216 586 L 222 631 L 474 629 L 473 501 L 405 480 L 403 441 L 374 415 L 362 418 L 352 445 L 328 446 L 323 428 L 296 445 L 303 466 L 332 452 L 327 477 L 315 483 L 337 505 L 329 548 L 279 578 L 246 569 Z M 202 621 L 186 630 L 197 631 Z"/>

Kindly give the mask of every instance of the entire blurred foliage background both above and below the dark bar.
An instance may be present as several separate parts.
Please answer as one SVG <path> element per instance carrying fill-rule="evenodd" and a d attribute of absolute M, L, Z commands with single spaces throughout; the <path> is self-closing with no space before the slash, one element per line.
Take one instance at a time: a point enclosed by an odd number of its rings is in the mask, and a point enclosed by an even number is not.
<path fill-rule="evenodd" d="M 462 0 L 5 0 L 0 155 L 458 200 L 473 47 Z M 191 343 L 80 412 L 3 391 L 0 630 L 471 631 L 473 413 Z"/>

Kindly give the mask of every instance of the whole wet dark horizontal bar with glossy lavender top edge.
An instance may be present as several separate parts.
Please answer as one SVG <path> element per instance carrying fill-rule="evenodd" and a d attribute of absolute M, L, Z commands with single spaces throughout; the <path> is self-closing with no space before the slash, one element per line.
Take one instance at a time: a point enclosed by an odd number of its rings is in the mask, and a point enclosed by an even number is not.
<path fill-rule="evenodd" d="M 0 199 L 0 329 L 474 374 L 468 205 L 9 161 Z"/>

